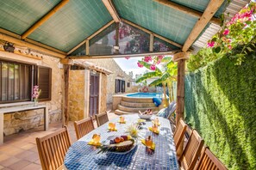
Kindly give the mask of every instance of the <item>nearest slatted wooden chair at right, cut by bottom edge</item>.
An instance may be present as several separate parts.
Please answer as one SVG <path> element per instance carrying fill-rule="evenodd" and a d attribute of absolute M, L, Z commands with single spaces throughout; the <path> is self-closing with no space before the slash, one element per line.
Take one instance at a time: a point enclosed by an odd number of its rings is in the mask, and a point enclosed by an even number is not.
<path fill-rule="evenodd" d="M 203 147 L 203 151 L 200 155 L 200 159 L 197 163 L 195 169 L 200 170 L 227 170 L 228 168 L 225 167 L 218 158 L 209 150 L 208 147 Z"/>

